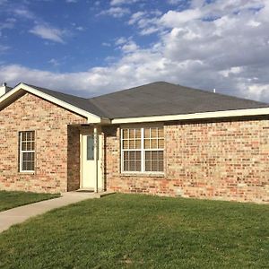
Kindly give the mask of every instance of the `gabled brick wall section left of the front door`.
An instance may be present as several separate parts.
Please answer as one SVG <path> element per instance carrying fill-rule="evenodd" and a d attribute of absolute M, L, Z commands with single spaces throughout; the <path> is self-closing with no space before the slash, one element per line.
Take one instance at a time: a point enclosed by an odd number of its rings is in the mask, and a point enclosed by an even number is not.
<path fill-rule="evenodd" d="M 76 156 L 68 159 L 67 151 L 74 154 L 79 143 L 75 142 L 78 134 L 75 129 L 67 132 L 67 126 L 84 123 L 86 119 L 30 93 L 1 110 L 0 189 L 64 192 L 67 190 L 67 172 L 68 187 L 77 187 L 79 163 L 73 163 Z M 36 131 L 34 174 L 20 173 L 18 169 L 18 133 L 27 130 Z M 67 146 L 68 141 L 74 149 Z"/>

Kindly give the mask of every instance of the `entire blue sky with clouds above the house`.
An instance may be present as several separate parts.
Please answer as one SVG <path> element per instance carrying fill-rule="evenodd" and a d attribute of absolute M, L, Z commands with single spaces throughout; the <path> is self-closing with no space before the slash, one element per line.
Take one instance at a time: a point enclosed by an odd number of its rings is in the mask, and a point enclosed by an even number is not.
<path fill-rule="evenodd" d="M 0 0 L 0 81 L 84 97 L 167 81 L 269 102 L 269 1 Z"/>

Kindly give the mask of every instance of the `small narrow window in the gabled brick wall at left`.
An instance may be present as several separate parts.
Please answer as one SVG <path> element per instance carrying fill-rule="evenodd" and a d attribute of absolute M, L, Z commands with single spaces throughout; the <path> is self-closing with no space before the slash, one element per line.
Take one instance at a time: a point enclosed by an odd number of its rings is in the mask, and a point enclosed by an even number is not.
<path fill-rule="evenodd" d="M 35 170 L 35 132 L 20 132 L 20 171 Z"/>

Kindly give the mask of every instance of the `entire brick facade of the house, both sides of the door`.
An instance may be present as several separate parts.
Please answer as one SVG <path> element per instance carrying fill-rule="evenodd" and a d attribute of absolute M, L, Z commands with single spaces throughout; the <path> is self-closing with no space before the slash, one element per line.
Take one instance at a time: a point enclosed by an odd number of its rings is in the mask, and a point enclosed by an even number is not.
<path fill-rule="evenodd" d="M 80 187 L 85 118 L 30 93 L 0 111 L 0 189 L 65 192 Z M 145 125 L 146 126 L 146 125 Z M 35 173 L 19 172 L 19 132 L 36 133 Z M 103 126 L 105 188 L 124 193 L 269 202 L 268 117 L 169 122 L 164 173 L 120 173 L 120 128 Z"/>

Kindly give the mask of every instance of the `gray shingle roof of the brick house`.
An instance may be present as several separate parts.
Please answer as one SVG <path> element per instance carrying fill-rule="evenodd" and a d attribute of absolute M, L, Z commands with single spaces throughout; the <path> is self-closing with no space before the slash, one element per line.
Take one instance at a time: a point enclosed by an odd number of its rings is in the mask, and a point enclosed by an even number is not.
<path fill-rule="evenodd" d="M 29 84 L 28 84 L 29 85 Z M 132 89 L 85 99 L 37 86 L 30 87 L 100 117 L 149 117 L 244 108 L 269 108 L 269 104 L 169 82 L 153 82 Z"/>

